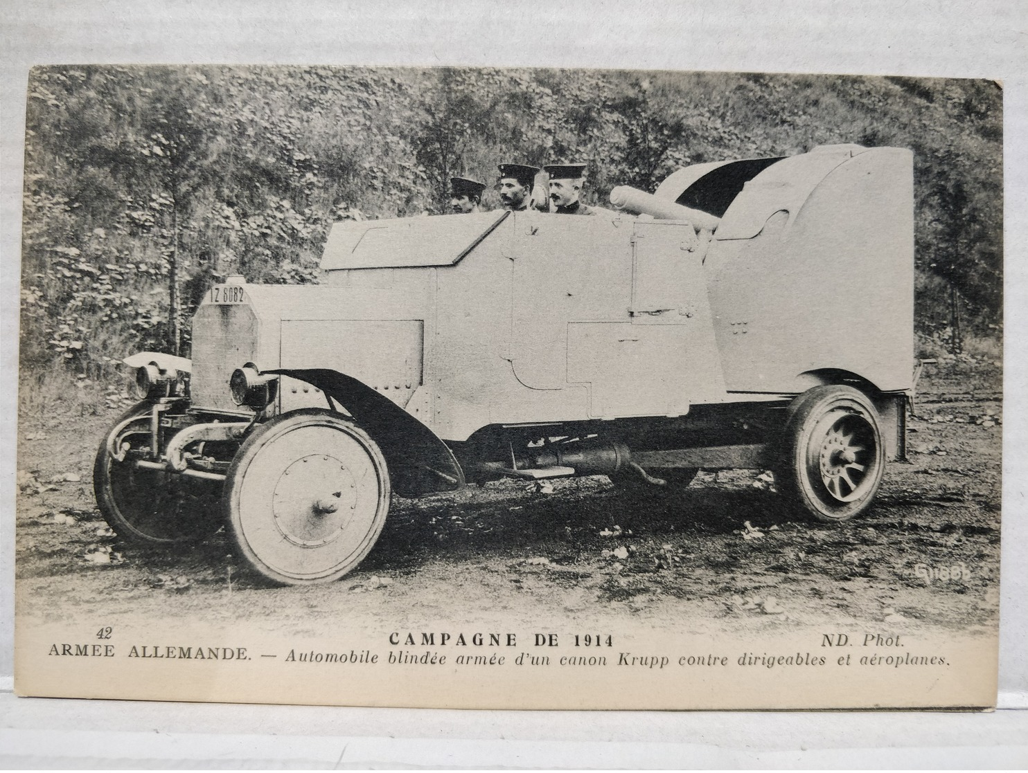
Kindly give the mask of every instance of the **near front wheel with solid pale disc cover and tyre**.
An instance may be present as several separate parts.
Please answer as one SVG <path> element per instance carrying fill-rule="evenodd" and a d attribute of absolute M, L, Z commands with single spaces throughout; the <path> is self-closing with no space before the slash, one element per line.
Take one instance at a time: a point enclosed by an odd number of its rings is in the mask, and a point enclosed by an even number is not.
<path fill-rule="evenodd" d="M 390 495 L 386 459 L 363 429 L 328 411 L 295 411 L 243 443 L 222 502 L 253 568 L 299 585 L 338 579 L 360 564 Z"/>

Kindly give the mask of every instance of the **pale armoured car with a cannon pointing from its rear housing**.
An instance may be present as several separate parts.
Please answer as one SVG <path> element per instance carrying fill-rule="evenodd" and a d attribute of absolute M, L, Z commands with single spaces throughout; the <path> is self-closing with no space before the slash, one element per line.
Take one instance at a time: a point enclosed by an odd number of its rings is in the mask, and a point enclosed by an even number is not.
<path fill-rule="evenodd" d="M 874 500 L 913 391 L 912 154 L 702 163 L 621 212 L 334 226 L 321 284 L 210 289 L 191 359 L 101 443 L 121 536 L 227 524 L 258 572 L 336 579 L 394 495 L 605 474 L 630 496 L 774 471 L 828 521 Z M 771 495 L 769 495 L 771 496 Z"/>

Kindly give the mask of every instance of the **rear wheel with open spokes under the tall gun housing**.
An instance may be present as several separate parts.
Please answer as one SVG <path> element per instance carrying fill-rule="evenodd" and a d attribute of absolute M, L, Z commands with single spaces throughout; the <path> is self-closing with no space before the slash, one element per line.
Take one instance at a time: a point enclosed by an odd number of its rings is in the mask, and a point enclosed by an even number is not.
<path fill-rule="evenodd" d="M 862 392 L 818 386 L 790 405 L 775 480 L 795 506 L 818 520 L 849 520 L 871 505 L 884 472 L 878 412 Z"/>

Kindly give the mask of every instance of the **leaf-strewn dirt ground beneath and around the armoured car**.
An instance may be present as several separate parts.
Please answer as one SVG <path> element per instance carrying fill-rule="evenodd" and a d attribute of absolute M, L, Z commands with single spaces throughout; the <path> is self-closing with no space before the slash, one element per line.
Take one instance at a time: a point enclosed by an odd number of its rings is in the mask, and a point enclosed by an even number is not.
<path fill-rule="evenodd" d="M 603 476 L 556 480 L 552 492 L 499 481 L 395 499 L 356 572 L 287 588 L 248 574 L 224 530 L 167 550 L 126 545 L 106 528 L 90 469 L 116 399 L 96 415 L 23 415 L 17 611 L 106 624 L 247 620 L 311 635 L 341 619 L 415 625 L 486 613 L 696 631 L 872 621 L 984 631 L 998 610 L 999 383 L 994 363 L 929 366 L 909 463 L 889 464 L 876 505 L 840 527 L 784 511 L 756 471 L 702 472 L 666 505 L 633 500 Z M 961 577 L 938 576 L 954 566 Z"/>

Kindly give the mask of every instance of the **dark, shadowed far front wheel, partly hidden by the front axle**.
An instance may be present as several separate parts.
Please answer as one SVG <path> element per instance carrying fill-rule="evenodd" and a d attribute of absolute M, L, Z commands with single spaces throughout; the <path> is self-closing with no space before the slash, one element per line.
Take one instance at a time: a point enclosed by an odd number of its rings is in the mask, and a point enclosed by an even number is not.
<path fill-rule="evenodd" d="M 139 469 L 131 458 L 119 462 L 108 453 L 112 435 L 116 435 L 115 447 L 149 446 L 149 413 L 147 402 L 130 409 L 100 443 L 93 465 L 97 505 L 108 526 L 126 540 L 155 545 L 193 542 L 220 524 L 221 484 Z"/>

